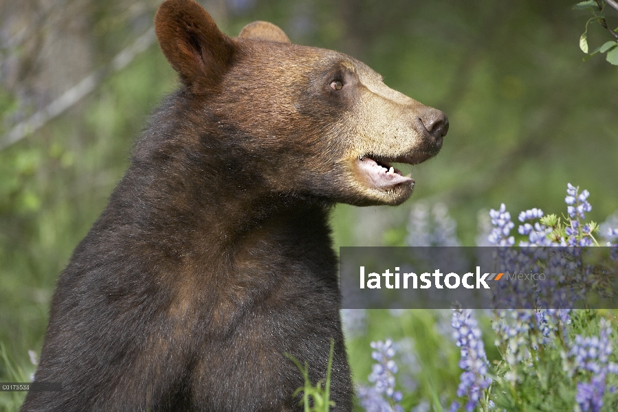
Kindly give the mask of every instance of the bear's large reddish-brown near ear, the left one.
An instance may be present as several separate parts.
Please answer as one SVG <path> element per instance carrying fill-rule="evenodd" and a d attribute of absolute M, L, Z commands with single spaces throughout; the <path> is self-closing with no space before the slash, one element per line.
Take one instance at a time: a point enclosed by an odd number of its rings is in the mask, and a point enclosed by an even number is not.
<path fill-rule="evenodd" d="M 230 66 L 234 42 L 194 0 L 159 5 L 155 32 L 168 62 L 194 91 L 215 87 Z"/>

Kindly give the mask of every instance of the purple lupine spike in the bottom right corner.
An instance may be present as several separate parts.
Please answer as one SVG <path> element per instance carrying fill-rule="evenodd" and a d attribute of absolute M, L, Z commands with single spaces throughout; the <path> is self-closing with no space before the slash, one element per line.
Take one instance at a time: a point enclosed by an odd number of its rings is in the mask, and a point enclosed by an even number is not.
<path fill-rule="evenodd" d="M 618 374 L 618 365 L 609 361 L 612 353 L 612 343 L 609 336 L 612 334 L 612 326 L 607 319 L 599 321 L 599 336 L 582 337 L 575 336 L 575 343 L 569 350 L 569 356 L 573 359 L 573 368 L 569 373 L 590 372 L 590 382 L 577 383 L 577 395 L 575 402 L 582 411 L 601 411 L 603 396 L 606 391 L 606 377 L 608 374 Z"/>

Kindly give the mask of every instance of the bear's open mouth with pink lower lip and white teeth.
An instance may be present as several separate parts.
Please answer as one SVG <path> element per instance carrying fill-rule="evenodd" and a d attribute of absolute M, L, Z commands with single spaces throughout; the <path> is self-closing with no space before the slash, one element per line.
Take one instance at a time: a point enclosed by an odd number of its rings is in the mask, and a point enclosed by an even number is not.
<path fill-rule="evenodd" d="M 373 187 L 379 190 L 388 190 L 397 185 L 415 184 L 415 180 L 410 177 L 411 174 L 404 176 L 401 170 L 396 169 L 390 163 L 416 165 L 430 157 L 432 157 L 432 154 L 425 152 L 415 152 L 398 157 L 364 155 L 358 158 L 358 168 Z"/>

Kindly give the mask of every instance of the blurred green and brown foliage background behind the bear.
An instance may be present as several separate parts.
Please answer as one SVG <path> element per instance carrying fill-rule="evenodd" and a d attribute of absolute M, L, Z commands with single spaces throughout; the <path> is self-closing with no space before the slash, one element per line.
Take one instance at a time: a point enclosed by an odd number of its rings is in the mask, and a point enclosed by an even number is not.
<path fill-rule="evenodd" d="M 0 382 L 29 379 L 27 351 L 41 349 L 58 274 L 122 176 L 148 113 L 177 86 L 153 41 L 158 3 L 0 0 Z M 466 245 L 478 216 L 500 203 L 514 216 L 531 207 L 560 213 L 567 182 L 590 190 L 593 220 L 618 209 L 618 67 L 598 56 L 582 62 L 588 14 L 570 2 L 201 3 L 229 35 L 271 21 L 294 43 L 350 54 L 447 113 L 440 155 L 409 168 L 411 200 L 339 205 L 335 246 L 404 244 L 419 199 L 448 205 Z M 606 14 L 618 25 L 618 13 Z M 592 26 L 591 48 L 610 40 Z M 424 330 L 428 317 L 410 317 L 409 328 Z M 0 408 L 16 408 L 21 396 L 0 392 Z"/>

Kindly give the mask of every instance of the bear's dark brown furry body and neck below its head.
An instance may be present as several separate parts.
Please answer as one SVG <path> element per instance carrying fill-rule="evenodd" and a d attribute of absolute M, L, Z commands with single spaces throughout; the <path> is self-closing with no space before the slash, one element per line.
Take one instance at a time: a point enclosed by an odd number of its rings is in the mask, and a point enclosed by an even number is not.
<path fill-rule="evenodd" d="M 248 139 L 180 91 L 155 113 L 58 282 L 24 411 L 294 409 L 302 376 L 351 408 L 328 203 L 265 187 Z M 210 122 L 205 122 L 210 119 Z M 177 130 L 184 130 L 179 135 Z"/>

